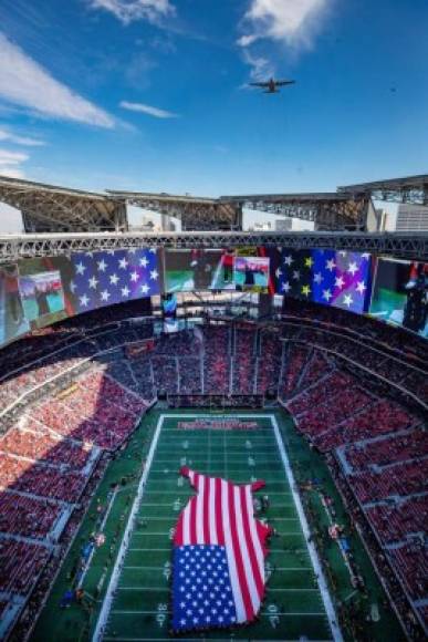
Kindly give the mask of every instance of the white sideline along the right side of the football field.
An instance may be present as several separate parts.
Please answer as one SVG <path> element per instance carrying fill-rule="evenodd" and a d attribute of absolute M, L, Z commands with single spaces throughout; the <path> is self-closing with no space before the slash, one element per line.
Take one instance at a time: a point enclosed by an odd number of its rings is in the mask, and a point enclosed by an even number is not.
<path fill-rule="evenodd" d="M 316 548 L 315 548 L 313 541 L 310 539 L 311 532 L 310 532 L 309 525 L 306 521 L 306 516 L 305 516 L 304 510 L 303 510 L 300 495 L 296 491 L 294 475 L 293 475 L 293 472 L 291 469 L 289 457 L 286 455 L 284 444 L 283 444 L 283 441 L 281 437 L 280 427 L 278 425 L 276 417 L 274 415 L 271 415 L 271 422 L 272 422 L 273 431 L 274 431 L 274 434 L 276 437 L 278 447 L 280 449 L 282 463 L 284 465 L 286 478 L 289 480 L 290 488 L 291 488 L 291 491 L 293 494 L 295 508 L 297 510 L 297 515 L 299 515 L 300 522 L 302 526 L 303 535 L 304 535 L 304 538 L 306 540 L 306 546 L 307 546 L 307 550 L 309 550 L 309 553 L 311 557 L 311 561 L 312 561 L 312 565 L 314 567 L 314 571 L 317 576 L 317 584 L 319 584 L 320 592 L 321 592 L 323 603 L 324 603 L 324 608 L 325 608 L 325 611 L 326 611 L 326 614 L 328 618 L 328 623 L 330 623 L 330 628 L 332 630 L 333 640 L 335 642 L 343 642 L 342 633 L 341 633 L 341 630 L 337 625 L 337 618 L 336 618 L 336 613 L 334 611 L 333 601 L 332 601 L 332 598 L 331 598 L 330 592 L 328 592 L 327 582 L 325 580 L 324 572 L 323 572 L 322 566 L 321 566 L 321 562 L 319 560 Z"/>

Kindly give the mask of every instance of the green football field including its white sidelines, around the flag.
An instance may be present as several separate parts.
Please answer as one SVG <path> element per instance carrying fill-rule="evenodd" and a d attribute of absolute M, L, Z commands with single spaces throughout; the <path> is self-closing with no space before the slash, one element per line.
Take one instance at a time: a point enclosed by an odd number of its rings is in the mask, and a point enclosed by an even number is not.
<path fill-rule="evenodd" d="M 242 628 L 186 634 L 186 640 L 340 640 L 330 625 L 334 612 L 307 543 L 307 526 L 292 488 L 292 473 L 275 417 L 233 413 L 251 421 L 248 429 L 179 427 L 203 417 L 166 413 L 159 417 L 144 475 L 131 512 L 95 630 L 95 640 L 170 638 L 170 581 L 174 527 L 195 493 L 179 475 L 181 466 L 234 483 L 265 482 L 254 497 L 268 495 L 257 514 L 275 529 L 265 561 L 267 598 L 259 621 Z M 222 420 L 225 415 L 210 415 Z M 225 417 L 226 418 L 226 417 Z M 306 536 L 305 536 L 306 534 Z"/>

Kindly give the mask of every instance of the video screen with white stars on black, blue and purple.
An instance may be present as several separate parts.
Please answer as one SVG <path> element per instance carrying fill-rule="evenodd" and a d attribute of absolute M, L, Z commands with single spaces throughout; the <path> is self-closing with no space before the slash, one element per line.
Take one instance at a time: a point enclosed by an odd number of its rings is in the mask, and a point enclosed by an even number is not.
<path fill-rule="evenodd" d="M 368 309 L 372 257 L 336 250 L 270 248 L 271 293 L 362 313 Z"/>

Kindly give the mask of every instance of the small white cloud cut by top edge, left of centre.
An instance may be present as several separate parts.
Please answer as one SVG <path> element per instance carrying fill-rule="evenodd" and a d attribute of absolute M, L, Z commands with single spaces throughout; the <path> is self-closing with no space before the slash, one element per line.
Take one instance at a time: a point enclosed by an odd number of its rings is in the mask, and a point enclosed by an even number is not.
<path fill-rule="evenodd" d="M 175 13 L 169 0 L 88 0 L 92 9 L 109 11 L 124 24 L 136 20 L 147 20 L 158 24 Z"/>

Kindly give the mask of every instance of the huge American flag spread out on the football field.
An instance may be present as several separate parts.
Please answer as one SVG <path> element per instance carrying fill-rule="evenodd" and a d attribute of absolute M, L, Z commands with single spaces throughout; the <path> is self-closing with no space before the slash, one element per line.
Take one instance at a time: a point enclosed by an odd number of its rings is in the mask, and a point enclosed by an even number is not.
<path fill-rule="evenodd" d="M 181 468 L 197 495 L 174 537 L 173 629 L 176 632 L 251 622 L 264 597 L 270 527 L 254 519 L 252 491 Z"/>

